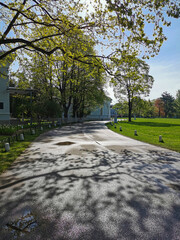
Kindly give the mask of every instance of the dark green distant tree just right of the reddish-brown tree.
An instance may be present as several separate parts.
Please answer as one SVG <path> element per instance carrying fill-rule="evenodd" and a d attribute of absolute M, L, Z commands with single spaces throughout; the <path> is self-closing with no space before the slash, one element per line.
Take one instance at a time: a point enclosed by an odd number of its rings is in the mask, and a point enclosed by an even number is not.
<path fill-rule="evenodd" d="M 168 92 L 163 92 L 160 99 L 164 104 L 165 117 L 172 117 L 175 114 L 174 97 Z"/>

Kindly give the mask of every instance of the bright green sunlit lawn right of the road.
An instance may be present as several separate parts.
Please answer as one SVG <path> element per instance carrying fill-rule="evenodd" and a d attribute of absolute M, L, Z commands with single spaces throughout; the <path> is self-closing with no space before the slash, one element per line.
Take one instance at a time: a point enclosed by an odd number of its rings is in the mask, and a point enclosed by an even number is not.
<path fill-rule="evenodd" d="M 116 128 L 115 124 L 106 125 L 112 131 L 124 136 L 180 152 L 180 119 L 137 118 L 130 123 L 118 121 Z M 137 130 L 138 136 L 134 136 L 134 130 Z M 162 135 L 163 142 L 159 142 L 159 135 Z"/>

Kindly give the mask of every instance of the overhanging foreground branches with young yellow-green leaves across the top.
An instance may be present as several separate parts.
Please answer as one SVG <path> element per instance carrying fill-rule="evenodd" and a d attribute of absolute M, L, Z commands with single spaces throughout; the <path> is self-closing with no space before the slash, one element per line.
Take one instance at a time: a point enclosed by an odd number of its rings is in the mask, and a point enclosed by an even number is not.
<path fill-rule="evenodd" d="M 82 32 L 96 44 L 111 47 L 110 55 L 101 57 L 115 57 L 131 43 L 154 55 L 166 40 L 163 25 L 170 25 L 167 17 L 178 18 L 179 9 L 178 0 L 4 0 L 0 2 L 0 46 L 4 51 L 0 59 L 26 49 L 49 56 L 60 50 L 74 60 L 86 61 L 84 57 L 96 54 L 73 54 L 64 42 L 68 37 L 82 44 Z M 54 42 L 50 48 L 48 41 Z"/>

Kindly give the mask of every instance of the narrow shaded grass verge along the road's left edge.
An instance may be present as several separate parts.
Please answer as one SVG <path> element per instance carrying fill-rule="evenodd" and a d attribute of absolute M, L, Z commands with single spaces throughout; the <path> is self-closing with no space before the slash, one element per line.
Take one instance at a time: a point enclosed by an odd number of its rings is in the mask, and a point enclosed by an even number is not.
<path fill-rule="evenodd" d="M 44 130 L 49 131 L 50 129 Z M 17 157 L 35 140 L 42 131 L 36 131 L 35 135 L 25 134 L 24 141 L 14 142 L 10 146 L 10 151 L 0 149 L 0 173 L 4 172 L 11 164 L 17 159 Z M 3 136 L 1 136 L 3 138 Z M 7 136 L 6 136 L 7 137 Z"/>

